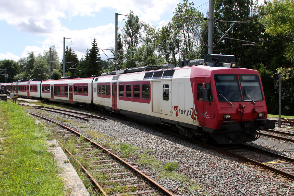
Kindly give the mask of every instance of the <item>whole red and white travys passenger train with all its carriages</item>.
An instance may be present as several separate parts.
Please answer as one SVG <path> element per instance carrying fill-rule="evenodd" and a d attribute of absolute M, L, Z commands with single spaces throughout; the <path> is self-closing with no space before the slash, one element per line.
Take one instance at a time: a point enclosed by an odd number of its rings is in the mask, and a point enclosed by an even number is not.
<path fill-rule="evenodd" d="M 91 78 L 16 81 L 19 97 L 82 105 L 172 128 L 203 142 L 238 144 L 275 127 L 261 78 L 233 55 L 208 54 L 163 66 L 124 68 Z"/>

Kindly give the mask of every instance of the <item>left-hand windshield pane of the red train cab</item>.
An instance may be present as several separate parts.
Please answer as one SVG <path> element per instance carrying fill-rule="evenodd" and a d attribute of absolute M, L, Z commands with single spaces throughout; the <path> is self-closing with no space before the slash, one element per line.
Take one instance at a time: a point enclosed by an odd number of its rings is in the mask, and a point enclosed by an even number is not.
<path fill-rule="evenodd" d="M 216 74 L 214 79 L 216 81 L 216 92 L 220 102 L 242 101 L 237 74 Z"/>

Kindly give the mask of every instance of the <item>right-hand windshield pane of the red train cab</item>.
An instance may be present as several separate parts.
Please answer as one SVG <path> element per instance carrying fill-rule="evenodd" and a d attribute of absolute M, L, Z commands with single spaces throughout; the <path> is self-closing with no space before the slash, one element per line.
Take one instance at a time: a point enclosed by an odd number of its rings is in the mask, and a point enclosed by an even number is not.
<path fill-rule="evenodd" d="M 262 101 L 260 82 L 257 75 L 239 75 L 244 101 Z"/>

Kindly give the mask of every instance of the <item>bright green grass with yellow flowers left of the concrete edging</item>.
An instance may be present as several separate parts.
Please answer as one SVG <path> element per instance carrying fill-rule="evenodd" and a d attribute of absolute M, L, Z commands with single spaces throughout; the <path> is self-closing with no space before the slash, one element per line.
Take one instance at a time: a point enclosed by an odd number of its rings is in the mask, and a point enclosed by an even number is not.
<path fill-rule="evenodd" d="M 0 102 L 0 195 L 65 195 L 60 168 L 47 151 L 52 139 L 21 106 Z"/>

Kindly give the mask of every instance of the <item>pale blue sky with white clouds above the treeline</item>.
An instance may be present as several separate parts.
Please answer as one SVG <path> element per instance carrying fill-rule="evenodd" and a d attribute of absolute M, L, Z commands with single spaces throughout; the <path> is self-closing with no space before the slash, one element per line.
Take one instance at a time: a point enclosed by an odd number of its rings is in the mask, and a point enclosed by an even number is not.
<path fill-rule="evenodd" d="M 194 7 L 206 13 L 209 0 L 194 0 Z M 0 60 L 27 57 L 55 45 L 61 60 L 63 38 L 78 58 L 84 56 L 96 38 L 98 48 L 114 47 L 115 13 L 134 15 L 151 26 L 160 28 L 173 17 L 182 0 L 1 0 L 0 1 Z M 191 0 L 189 2 L 192 2 Z M 118 16 L 123 28 L 125 16 Z M 111 58 L 110 51 L 103 50 Z M 107 56 L 100 50 L 102 60 Z"/>

